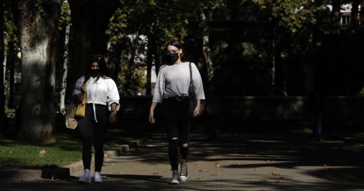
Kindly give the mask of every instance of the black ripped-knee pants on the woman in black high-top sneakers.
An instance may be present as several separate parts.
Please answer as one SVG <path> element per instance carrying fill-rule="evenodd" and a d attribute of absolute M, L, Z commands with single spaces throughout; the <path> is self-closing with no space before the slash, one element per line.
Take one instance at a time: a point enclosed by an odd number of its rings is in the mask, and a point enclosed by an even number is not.
<path fill-rule="evenodd" d="M 191 131 L 191 120 L 188 114 L 188 101 L 176 100 L 173 98 L 163 99 L 162 119 L 169 140 L 169 162 L 172 169 L 177 170 L 179 155 L 181 155 L 182 159 L 187 162 L 189 152 L 188 146 L 183 147 L 183 144 L 189 143 Z M 178 139 L 173 140 L 172 138 Z"/>

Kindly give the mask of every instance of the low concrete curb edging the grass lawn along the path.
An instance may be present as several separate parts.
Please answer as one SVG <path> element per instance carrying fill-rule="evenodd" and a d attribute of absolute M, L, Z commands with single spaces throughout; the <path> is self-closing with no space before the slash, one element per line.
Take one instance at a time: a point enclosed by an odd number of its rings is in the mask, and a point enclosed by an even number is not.
<path fill-rule="evenodd" d="M 110 151 L 104 151 L 104 160 L 114 158 L 115 156 L 121 156 L 122 154 L 128 153 L 133 150 L 138 150 L 139 146 L 142 146 L 147 142 L 148 138 L 143 137 L 142 139 L 136 139 L 128 142 L 128 144 L 120 145 L 118 148 Z M 95 165 L 94 156 L 92 156 L 91 167 Z M 56 169 L 50 169 L 42 171 L 42 178 L 49 179 L 68 179 L 70 176 L 74 176 L 79 172 L 83 172 L 82 160 L 69 164 L 67 166 L 59 167 Z"/>

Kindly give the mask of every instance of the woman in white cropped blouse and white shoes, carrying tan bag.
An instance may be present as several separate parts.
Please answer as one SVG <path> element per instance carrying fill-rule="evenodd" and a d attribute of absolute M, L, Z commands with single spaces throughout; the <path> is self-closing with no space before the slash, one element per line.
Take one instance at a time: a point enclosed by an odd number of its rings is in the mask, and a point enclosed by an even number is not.
<path fill-rule="evenodd" d="M 90 55 L 86 75 L 76 82 L 73 100 L 84 98 L 83 85 L 86 84 L 86 110 L 84 118 L 78 122 L 82 139 L 82 161 L 84 175 L 81 182 L 91 182 L 91 145 L 95 147 L 95 182 L 102 182 L 100 171 L 104 160 L 104 132 L 108 122 L 116 121 L 119 111 L 119 92 L 114 80 L 104 75 L 106 64 L 101 55 Z"/>

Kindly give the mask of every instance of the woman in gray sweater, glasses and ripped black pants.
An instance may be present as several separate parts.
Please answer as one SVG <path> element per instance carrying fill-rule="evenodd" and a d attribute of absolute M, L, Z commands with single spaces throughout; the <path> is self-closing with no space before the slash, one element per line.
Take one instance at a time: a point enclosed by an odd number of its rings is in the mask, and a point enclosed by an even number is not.
<path fill-rule="evenodd" d="M 191 121 L 188 114 L 190 63 L 182 61 L 182 46 L 178 41 L 171 42 L 166 46 L 165 58 L 167 63 L 159 69 L 155 83 L 149 122 L 155 123 L 154 109 L 157 103 L 161 103 L 162 120 L 169 140 L 169 161 L 172 167 L 172 178 L 169 183 L 178 184 L 178 180 L 186 181 L 188 175 L 187 156 L 191 130 Z M 201 99 L 205 99 L 205 94 L 201 75 L 194 63 L 191 63 L 191 69 L 197 98 L 197 106 L 193 116 L 197 116 L 200 111 Z M 178 163 L 181 163 L 180 174 L 178 174 Z"/>

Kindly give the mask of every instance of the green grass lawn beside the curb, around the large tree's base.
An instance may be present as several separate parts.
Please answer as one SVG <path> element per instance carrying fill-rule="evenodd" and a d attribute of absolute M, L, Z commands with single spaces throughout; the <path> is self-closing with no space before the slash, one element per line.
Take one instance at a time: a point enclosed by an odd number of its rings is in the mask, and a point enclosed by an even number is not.
<path fill-rule="evenodd" d="M 82 160 L 82 144 L 78 132 L 60 133 L 55 144 L 22 143 L 6 139 L 0 134 L 0 168 L 16 167 L 39 169 L 44 166 L 65 166 Z M 108 134 L 104 150 L 111 150 L 134 138 L 120 133 Z M 46 154 L 40 154 L 40 151 Z M 94 149 L 92 148 L 92 153 Z"/>

